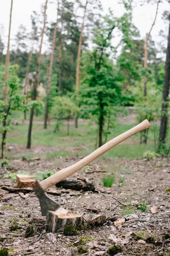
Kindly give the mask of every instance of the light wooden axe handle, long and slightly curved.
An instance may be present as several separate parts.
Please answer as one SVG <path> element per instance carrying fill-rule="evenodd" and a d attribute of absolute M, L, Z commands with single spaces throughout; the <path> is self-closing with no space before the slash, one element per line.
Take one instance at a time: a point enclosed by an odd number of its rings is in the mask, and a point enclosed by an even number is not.
<path fill-rule="evenodd" d="M 104 145 L 102 145 L 100 148 L 96 149 L 94 152 L 89 154 L 87 157 L 83 158 L 77 163 L 74 163 L 72 166 L 69 166 L 65 169 L 60 170 L 59 172 L 55 173 L 54 175 L 48 177 L 45 180 L 42 180 L 40 182 L 40 185 L 42 189 L 46 190 L 50 188 L 51 186 L 55 185 L 61 180 L 64 180 L 65 178 L 69 177 L 70 175 L 74 174 L 75 172 L 82 169 L 84 166 L 91 163 L 93 160 L 95 160 L 97 157 L 104 154 L 109 149 L 113 148 L 117 144 L 121 143 L 123 140 L 126 140 L 127 138 L 131 137 L 132 135 L 138 133 L 139 131 L 143 131 L 145 129 L 150 128 L 150 123 L 145 119 L 143 122 L 141 122 L 139 125 L 136 125 L 132 129 L 125 131 L 123 134 L 120 134 L 113 140 L 108 141 Z"/>

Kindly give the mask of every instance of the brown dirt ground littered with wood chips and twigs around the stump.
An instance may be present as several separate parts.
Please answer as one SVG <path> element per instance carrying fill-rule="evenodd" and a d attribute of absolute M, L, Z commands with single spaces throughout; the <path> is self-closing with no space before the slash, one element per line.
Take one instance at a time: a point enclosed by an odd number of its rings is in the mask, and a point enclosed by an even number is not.
<path fill-rule="evenodd" d="M 33 175 L 37 170 L 58 171 L 77 160 L 65 157 L 32 162 L 10 160 L 10 166 L 2 167 L 0 171 L 4 175 L 9 170 L 24 170 Z M 102 177 L 110 173 L 115 174 L 115 182 L 107 188 L 102 185 Z M 170 159 L 96 160 L 73 177 L 87 177 L 94 182 L 96 192 L 73 192 L 54 186 L 53 191 L 59 191 L 61 195 L 51 197 L 65 209 L 80 213 L 84 218 L 105 215 L 108 218 L 102 226 L 92 226 L 77 236 L 64 236 L 62 232 L 49 235 L 34 192 L 24 196 L 4 190 L 4 185 L 10 188 L 15 184 L 1 175 L 0 248 L 6 247 L 12 256 L 76 256 L 80 255 L 77 244 L 85 236 L 90 237 L 90 241 L 83 245 L 88 252 L 82 255 L 108 255 L 108 247 L 120 244 L 122 252 L 112 255 L 170 256 L 170 193 L 165 192 L 170 188 Z M 146 211 L 137 209 L 140 204 L 147 206 Z M 96 209 L 97 213 L 89 213 L 85 208 Z M 125 216 L 127 213 L 130 215 Z M 125 216 L 124 221 L 118 225 L 115 220 L 122 220 L 122 216 Z M 12 221 L 18 224 L 17 230 L 11 230 Z M 34 234 L 26 238 L 29 223 L 34 225 Z M 143 234 L 144 238 L 140 238 L 139 234 Z"/>

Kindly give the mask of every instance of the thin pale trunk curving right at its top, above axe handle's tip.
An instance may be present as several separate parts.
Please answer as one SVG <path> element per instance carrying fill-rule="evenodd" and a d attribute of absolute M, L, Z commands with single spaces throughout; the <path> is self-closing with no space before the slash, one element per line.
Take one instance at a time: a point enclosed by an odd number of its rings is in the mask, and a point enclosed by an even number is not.
<path fill-rule="evenodd" d="M 156 15 L 155 15 L 155 19 L 153 20 L 153 23 L 152 23 L 152 26 L 150 28 L 150 31 L 149 33 L 147 33 L 146 35 L 146 39 L 144 41 L 144 68 L 147 68 L 147 60 L 148 60 L 148 49 L 147 49 L 147 42 L 149 40 L 149 37 L 150 37 L 150 33 L 153 29 L 153 26 L 155 25 L 155 22 L 156 22 L 156 17 L 157 17 L 157 14 L 158 14 L 158 6 L 159 6 L 159 3 L 160 3 L 160 0 L 158 1 L 157 3 L 157 8 L 156 8 Z M 144 97 L 147 96 L 147 91 L 146 91 L 146 84 L 147 84 L 147 76 L 145 75 L 144 76 Z"/>

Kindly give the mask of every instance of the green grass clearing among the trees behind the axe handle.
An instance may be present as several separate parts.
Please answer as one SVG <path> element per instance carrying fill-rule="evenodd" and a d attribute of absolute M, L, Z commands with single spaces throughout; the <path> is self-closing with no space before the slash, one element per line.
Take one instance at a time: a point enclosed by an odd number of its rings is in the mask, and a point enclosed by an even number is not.
<path fill-rule="evenodd" d="M 27 115 L 26 122 L 29 121 Z M 23 120 L 23 113 L 17 112 L 15 116 L 12 116 L 12 119 Z M 48 129 L 43 129 L 43 116 L 38 117 L 34 116 L 34 123 L 32 129 L 32 138 L 31 145 L 33 146 L 46 146 L 46 150 L 42 155 L 36 155 L 45 158 L 51 157 L 85 157 L 94 151 L 96 144 L 96 124 L 89 124 L 88 121 L 79 123 L 79 128 L 74 127 L 74 122 L 70 124 L 70 135 L 67 136 L 67 124 L 63 122 L 63 125 L 60 127 L 60 131 L 54 133 L 55 121 L 48 125 Z M 41 123 L 40 123 L 41 122 Z M 111 129 L 111 134 L 108 135 L 108 140 L 113 139 L 114 137 L 122 134 L 128 129 L 135 126 L 127 124 L 117 124 L 115 128 Z M 28 123 L 21 125 L 11 125 L 10 132 L 7 135 L 7 143 L 22 144 L 26 145 L 27 143 L 27 134 L 28 134 Z M 105 138 L 103 137 L 103 140 Z M 48 151 L 49 147 L 49 151 Z M 54 149 L 51 150 L 51 147 Z M 149 132 L 149 139 L 147 145 L 139 144 L 139 134 L 135 134 L 133 137 L 128 139 L 125 143 L 117 145 L 115 148 L 112 148 L 100 159 L 107 160 L 108 158 L 121 157 L 121 158 L 141 158 L 143 157 L 144 152 L 154 151 L 153 143 L 153 134 Z M 8 158 L 16 158 L 25 156 L 27 158 L 35 157 L 32 152 L 24 151 L 20 156 L 16 156 L 14 151 L 5 153 L 5 156 Z M 123 171 L 124 172 L 124 171 Z M 127 173 L 128 171 L 125 171 Z M 127 173 L 128 174 L 128 173 Z M 130 174 L 130 172 L 129 172 Z"/>

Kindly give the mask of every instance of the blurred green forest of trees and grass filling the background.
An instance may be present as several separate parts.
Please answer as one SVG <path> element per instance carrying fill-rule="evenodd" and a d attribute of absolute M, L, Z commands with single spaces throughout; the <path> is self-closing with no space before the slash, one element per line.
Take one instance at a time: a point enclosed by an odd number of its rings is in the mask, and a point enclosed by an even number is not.
<path fill-rule="evenodd" d="M 31 31 L 21 23 L 11 41 L 11 1 L 7 45 L 3 24 L 0 30 L 2 158 L 6 143 L 27 149 L 57 146 L 46 156 L 65 156 L 73 153 L 65 151 L 69 142 L 79 147 L 78 155 L 86 154 L 144 119 L 152 124 L 149 134 L 141 132 L 120 145 L 116 155 L 168 156 L 170 16 L 167 10 L 162 13 L 166 29 L 158 45 L 152 29 L 163 0 L 148 3 L 154 18 L 145 38 L 133 24 L 138 1 L 119 1 L 124 13 L 116 16 L 111 9 L 106 15 L 97 0 L 46 0 L 30 14 Z M 52 23 L 46 15 L 51 4 L 56 8 Z M 26 150 L 23 155 L 31 157 Z"/>

